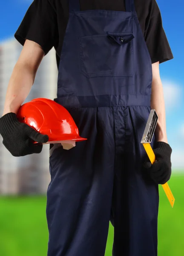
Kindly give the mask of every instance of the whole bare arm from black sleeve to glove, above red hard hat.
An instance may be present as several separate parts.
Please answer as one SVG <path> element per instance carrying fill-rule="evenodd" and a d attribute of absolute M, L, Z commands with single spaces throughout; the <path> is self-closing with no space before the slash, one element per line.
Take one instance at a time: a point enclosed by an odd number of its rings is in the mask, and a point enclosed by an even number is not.
<path fill-rule="evenodd" d="M 29 95 L 43 56 L 44 52 L 38 44 L 26 40 L 9 81 L 3 115 L 17 113 Z"/>

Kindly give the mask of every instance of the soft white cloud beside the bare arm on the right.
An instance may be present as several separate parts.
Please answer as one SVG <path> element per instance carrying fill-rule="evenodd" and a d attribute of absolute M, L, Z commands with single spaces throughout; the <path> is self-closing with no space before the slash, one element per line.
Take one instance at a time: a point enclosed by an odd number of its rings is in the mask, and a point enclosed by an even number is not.
<path fill-rule="evenodd" d="M 164 101 L 166 109 L 170 110 L 181 104 L 182 89 L 181 86 L 170 81 L 162 81 L 164 88 Z"/>

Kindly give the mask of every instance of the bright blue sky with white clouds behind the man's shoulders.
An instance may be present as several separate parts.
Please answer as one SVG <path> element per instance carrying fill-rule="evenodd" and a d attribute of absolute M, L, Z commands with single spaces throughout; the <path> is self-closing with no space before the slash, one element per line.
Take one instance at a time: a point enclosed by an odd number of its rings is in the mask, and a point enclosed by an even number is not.
<path fill-rule="evenodd" d="M 32 0 L 3 0 L 0 41 L 16 32 Z M 184 169 L 184 1 L 157 0 L 174 59 L 160 65 L 167 112 L 167 134 L 173 148 L 173 167 Z M 174 6 L 175 5 L 175 6 Z"/>

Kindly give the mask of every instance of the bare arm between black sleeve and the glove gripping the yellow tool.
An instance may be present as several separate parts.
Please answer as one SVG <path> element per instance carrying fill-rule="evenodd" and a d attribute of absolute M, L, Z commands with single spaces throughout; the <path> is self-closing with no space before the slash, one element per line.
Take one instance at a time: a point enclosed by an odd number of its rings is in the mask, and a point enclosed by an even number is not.
<path fill-rule="evenodd" d="M 154 70 L 154 67 L 153 67 L 153 70 Z M 155 109 L 156 113 L 158 114 L 158 123 L 155 129 L 155 139 L 157 141 L 163 141 L 165 143 L 168 143 L 167 131 L 166 131 L 164 92 L 163 92 L 161 78 L 159 75 L 159 68 L 156 70 L 156 72 L 158 74 L 153 76 L 152 95 L 151 95 L 151 108 Z"/>

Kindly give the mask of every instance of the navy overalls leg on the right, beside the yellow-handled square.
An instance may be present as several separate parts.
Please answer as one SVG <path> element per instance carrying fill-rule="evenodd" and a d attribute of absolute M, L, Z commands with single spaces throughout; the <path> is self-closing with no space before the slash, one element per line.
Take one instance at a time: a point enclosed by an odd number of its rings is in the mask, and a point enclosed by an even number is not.
<path fill-rule="evenodd" d="M 121 150 L 115 163 L 113 256 L 157 256 L 158 185 L 142 171 L 146 152 L 141 138 L 149 113 L 145 106 L 117 110 L 123 128 L 116 123 Z"/>

